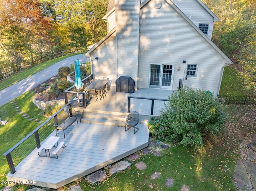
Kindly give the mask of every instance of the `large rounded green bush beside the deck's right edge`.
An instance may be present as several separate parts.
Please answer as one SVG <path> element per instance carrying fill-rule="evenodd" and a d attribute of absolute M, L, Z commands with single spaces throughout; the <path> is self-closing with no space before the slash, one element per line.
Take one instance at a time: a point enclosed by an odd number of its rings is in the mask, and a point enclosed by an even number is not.
<path fill-rule="evenodd" d="M 220 132 L 226 114 L 218 99 L 188 87 L 169 96 L 160 116 L 148 122 L 152 136 L 183 146 L 203 146 L 208 134 Z"/>

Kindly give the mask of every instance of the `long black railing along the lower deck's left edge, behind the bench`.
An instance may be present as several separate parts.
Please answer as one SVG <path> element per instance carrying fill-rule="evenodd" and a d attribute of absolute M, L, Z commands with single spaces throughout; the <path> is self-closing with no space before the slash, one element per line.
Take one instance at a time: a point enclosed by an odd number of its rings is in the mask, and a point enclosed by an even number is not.
<path fill-rule="evenodd" d="M 70 104 L 71 103 L 68 102 L 40 126 L 35 128 L 26 137 L 4 153 L 12 174 L 16 172 L 15 166 L 18 165 L 18 163 L 26 158 L 26 156 L 28 156 L 28 154 L 30 154 L 35 148 L 40 148 L 40 140 L 45 140 L 55 130 L 54 122 L 57 121 L 57 123 L 60 124 L 68 118 L 68 115 L 63 115 L 63 111 L 66 110 L 71 114 Z"/>

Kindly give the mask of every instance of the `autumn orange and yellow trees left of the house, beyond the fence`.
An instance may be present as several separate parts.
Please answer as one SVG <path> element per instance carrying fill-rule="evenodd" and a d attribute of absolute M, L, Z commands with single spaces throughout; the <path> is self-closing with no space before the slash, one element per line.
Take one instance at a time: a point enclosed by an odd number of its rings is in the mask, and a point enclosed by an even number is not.
<path fill-rule="evenodd" d="M 106 35 L 108 0 L 0 0 L 0 71 Z M 1 75 L 0 73 L 0 75 Z"/>

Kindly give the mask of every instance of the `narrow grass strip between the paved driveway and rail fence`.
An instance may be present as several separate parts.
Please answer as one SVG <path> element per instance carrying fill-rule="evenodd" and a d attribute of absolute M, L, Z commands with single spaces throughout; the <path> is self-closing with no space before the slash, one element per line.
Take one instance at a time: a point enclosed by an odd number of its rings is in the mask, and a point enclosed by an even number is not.
<path fill-rule="evenodd" d="M 7 79 L 4 79 L 2 82 L 0 82 L 0 90 L 4 89 L 6 87 L 9 87 L 10 85 L 15 84 L 18 81 L 21 81 L 21 80 L 23 80 L 27 77 L 30 77 L 30 76 L 34 75 L 35 73 L 38 73 L 38 72 L 46 69 L 47 67 L 49 67 L 49 66 L 51 66 L 51 65 L 53 65 L 53 64 L 55 64 L 59 61 L 62 61 L 65 58 L 68 58 L 68 57 L 74 56 L 74 55 L 78 55 L 78 54 L 82 54 L 82 53 L 83 52 L 70 54 L 70 55 L 66 55 L 66 56 L 63 56 L 63 57 L 52 59 L 52 60 L 49 60 L 49 61 L 46 61 L 46 62 L 42 62 L 42 63 L 40 63 L 40 64 L 38 64 L 38 65 L 36 65 L 32 68 L 26 69 L 24 71 L 21 71 L 20 73 L 12 75 L 12 76 L 8 77 Z"/>

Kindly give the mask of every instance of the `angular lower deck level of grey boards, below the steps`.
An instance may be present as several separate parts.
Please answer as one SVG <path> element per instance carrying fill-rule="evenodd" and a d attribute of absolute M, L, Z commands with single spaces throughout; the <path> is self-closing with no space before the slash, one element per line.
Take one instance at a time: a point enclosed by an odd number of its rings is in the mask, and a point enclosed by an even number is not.
<path fill-rule="evenodd" d="M 73 124 L 65 130 L 66 139 L 63 132 L 58 133 L 59 142 L 66 145 L 58 152 L 58 159 L 39 157 L 35 148 L 15 167 L 16 173 L 6 177 L 13 181 L 34 180 L 38 186 L 57 189 L 148 146 L 147 120 L 140 117 L 136 134 L 120 126 Z M 50 136 L 56 136 L 56 132 Z"/>

